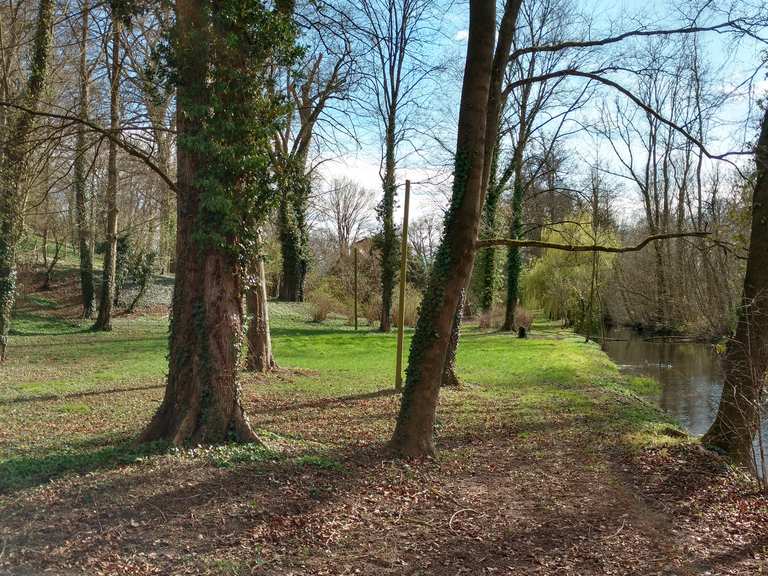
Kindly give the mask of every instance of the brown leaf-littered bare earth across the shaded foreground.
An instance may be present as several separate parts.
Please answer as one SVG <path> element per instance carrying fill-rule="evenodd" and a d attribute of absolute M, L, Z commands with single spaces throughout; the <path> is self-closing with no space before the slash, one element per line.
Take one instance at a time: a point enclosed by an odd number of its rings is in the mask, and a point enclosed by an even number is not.
<path fill-rule="evenodd" d="M 768 503 L 693 446 L 632 452 L 604 411 L 522 417 L 464 391 L 439 459 L 407 463 L 381 445 L 396 407 L 252 396 L 279 458 L 171 454 L 11 495 L 0 573 L 768 573 Z"/>

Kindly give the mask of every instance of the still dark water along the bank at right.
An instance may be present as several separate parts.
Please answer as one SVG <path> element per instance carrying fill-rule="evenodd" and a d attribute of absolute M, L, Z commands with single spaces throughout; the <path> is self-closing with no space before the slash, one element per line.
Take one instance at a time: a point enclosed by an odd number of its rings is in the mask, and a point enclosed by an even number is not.
<path fill-rule="evenodd" d="M 720 361 L 710 344 L 649 341 L 632 330 L 614 329 L 606 334 L 603 349 L 622 371 L 659 382 L 654 400 L 690 433 L 707 431 L 723 389 Z M 768 449 L 768 422 L 762 437 Z"/>

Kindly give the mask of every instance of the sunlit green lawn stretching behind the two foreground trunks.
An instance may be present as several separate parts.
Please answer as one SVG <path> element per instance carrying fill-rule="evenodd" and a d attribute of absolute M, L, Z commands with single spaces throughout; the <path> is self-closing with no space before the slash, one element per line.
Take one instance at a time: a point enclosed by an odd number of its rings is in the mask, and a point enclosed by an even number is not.
<path fill-rule="evenodd" d="M 301 305 L 275 304 L 270 314 L 277 361 L 299 375 L 271 379 L 268 389 L 250 393 L 343 402 L 392 388 L 394 333 L 355 332 L 343 320 L 310 323 Z M 0 369 L 0 493 L 163 451 L 131 441 L 162 398 L 167 320 L 117 319 L 110 333 L 87 328 L 43 311 L 15 319 L 10 360 Z M 596 345 L 554 326 L 537 325 L 526 340 L 468 327 L 458 366 L 466 387 L 444 396 L 452 417 L 467 426 L 489 407 L 492 412 L 496 404 L 513 403 L 513 418 L 530 430 L 557 413 L 631 446 L 672 441 L 664 437 L 670 421 L 639 397 L 652 389 L 651 382 L 625 379 Z M 442 426 L 441 420 L 438 435 Z M 520 437 L 533 433 L 521 430 Z M 279 439 L 301 440 L 301 434 Z M 291 460 L 294 465 L 343 468 L 323 446 L 299 448 L 303 454 Z M 269 449 L 247 446 L 204 450 L 209 464 L 223 468 L 278 458 Z"/>

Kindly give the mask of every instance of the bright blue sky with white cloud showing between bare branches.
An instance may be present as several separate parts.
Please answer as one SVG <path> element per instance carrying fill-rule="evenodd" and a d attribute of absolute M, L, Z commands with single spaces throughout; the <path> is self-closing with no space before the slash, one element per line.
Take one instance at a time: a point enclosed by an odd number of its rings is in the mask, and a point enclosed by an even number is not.
<path fill-rule="evenodd" d="M 610 32 L 616 33 L 627 29 L 637 28 L 638 23 L 648 28 L 665 28 L 679 25 L 679 16 L 674 9 L 674 3 L 660 0 L 575 0 L 577 12 L 583 18 L 589 18 L 594 37 L 601 37 Z M 690 3 L 689 3 L 690 4 Z M 745 4 L 745 2 L 742 2 Z M 723 3 L 720 3 L 722 6 Z M 465 1 L 453 3 L 443 14 L 440 27 L 440 40 L 435 43 L 434 54 L 436 57 L 446 58 L 453 62 L 456 70 L 463 66 L 463 57 L 466 51 L 467 10 Z M 575 16 L 575 17 L 578 17 Z M 713 18 L 721 20 L 720 18 Z M 762 47 L 756 42 L 742 42 L 737 47 L 729 43 L 729 39 L 723 35 L 706 34 L 703 36 L 702 50 L 704 58 L 709 62 L 713 76 L 721 80 L 722 91 L 733 91 L 744 78 L 753 73 L 759 62 Z M 453 76 L 447 75 L 437 97 L 427 98 L 425 107 L 431 109 L 438 117 L 442 125 L 455 126 L 458 114 L 459 92 L 461 89 L 460 74 L 455 72 Z M 760 95 L 768 88 L 768 82 L 764 75 L 756 78 L 752 86 L 751 94 L 742 89 L 739 95 L 732 95 L 729 101 L 718 111 L 718 127 L 714 130 L 718 139 L 712 142 L 711 148 L 716 151 L 725 151 L 741 148 L 745 140 L 754 133 L 754 122 L 747 122 L 751 111 L 754 111 L 752 97 Z M 599 114 L 599 102 L 590 102 L 582 112 L 582 117 L 594 117 Z M 381 180 L 379 178 L 380 144 L 378 132 L 375 130 L 374 121 L 370 118 L 357 120 L 361 123 L 363 134 L 361 145 L 354 150 L 345 151 L 326 158 L 320 169 L 322 177 L 330 181 L 337 177 L 347 177 L 355 180 L 363 186 L 376 191 L 376 197 L 380 196 Z M 366 127 L 366 123 L 369 125 Z M 454 128 L 455 129 L 455 128 Z M 453 145 L 452 136 L 444 136 L 447 144 Z M 406 155 L 402 159 L 398 170 L 398 181 L 404 182 L 406 178 L 413 181 L 411 199 L 411 219 L 418 218 L 427 212 L 439 210 L 446 203 L 447 194 L 450 192 L 450 159 L 444 150 L 436 142 L 429 142 L 427 138 L 422 147 L 426 154 Z M 602 162 L 610 165 L 615 163 L 613 152 L 608 149 L 605 142 L 599 138 L 582 134 L 569 142 L 577 157 L 584 159 L 586 165 L 599 157 Z M 432 150 L 434 154 L 430 154 Z M 625 189 L 623 197 L 619 201 L 619 210 L 627 217 L 631 217 L 633 210 L 638 206 L 635 190 Z M 398 202 L 397 220 L 402 218 L 402 201 Z"/>

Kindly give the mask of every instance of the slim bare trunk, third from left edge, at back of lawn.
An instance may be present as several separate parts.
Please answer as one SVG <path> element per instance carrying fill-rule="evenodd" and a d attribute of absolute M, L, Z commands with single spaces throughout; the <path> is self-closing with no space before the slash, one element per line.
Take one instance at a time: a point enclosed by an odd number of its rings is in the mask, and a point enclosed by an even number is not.
<path fill-rule="evenodd" d="M 112 64 L 111 84 L 109 88 L 109 130 L 117 138 L 120 131 L 120 36 L 122 22 L 116 4 L 112 3 Z M 115 275 L 117 271 L 117 144 L 109 141 L 109 159 L 107 161 L 107 208 L 106 241 L 104 267 L 101 277 L 101 297 L 99 314 L 94 330 L 112 330 L 112 310 L 115 300 Z"/>

